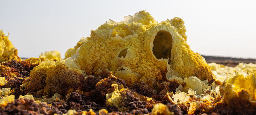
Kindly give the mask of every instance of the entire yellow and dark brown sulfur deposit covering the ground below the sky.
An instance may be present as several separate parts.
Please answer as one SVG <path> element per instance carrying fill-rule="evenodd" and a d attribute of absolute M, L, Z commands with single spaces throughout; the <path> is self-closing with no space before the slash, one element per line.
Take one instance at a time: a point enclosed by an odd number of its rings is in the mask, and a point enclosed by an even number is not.
<path fill-rule="evenodd" d="M 207 64 L 179 17 L 109 20 L 58 51 L 20 60 L 0 31 L 0 115 L 253 115 L 256 64 Z"/>

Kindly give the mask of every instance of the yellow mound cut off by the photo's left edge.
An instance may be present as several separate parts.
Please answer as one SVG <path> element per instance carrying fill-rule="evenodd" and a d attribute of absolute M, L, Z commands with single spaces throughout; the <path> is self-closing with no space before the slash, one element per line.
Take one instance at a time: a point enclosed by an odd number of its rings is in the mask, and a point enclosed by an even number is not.
<path fill-rule="evenodd" d="M 8 36 L 5 36 L 3 30 L 0 30 L 0 63 L 10 59 L 20 60 L 18 50 L 14 48 Z"/>

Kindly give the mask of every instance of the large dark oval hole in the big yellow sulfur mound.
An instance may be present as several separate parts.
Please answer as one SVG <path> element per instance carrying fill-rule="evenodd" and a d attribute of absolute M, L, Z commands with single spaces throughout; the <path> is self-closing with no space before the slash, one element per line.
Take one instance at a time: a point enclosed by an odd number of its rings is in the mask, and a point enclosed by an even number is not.
<path fill-rule="evenodd" d="M 158 31 L 153 41 L 153 54 L 157 59 L 168 59 L 171 63 L 172 35 L 167 31 Z"/>

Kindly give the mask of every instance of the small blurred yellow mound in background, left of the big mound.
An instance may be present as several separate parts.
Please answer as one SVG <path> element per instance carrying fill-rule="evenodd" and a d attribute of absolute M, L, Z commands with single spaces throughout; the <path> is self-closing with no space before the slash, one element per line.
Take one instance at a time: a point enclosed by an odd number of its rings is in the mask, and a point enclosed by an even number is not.
<path fill-rule="evenodd" d="M 52 61 L 57 61 L 57 60 L 61 59 L 61 53 L 59 53 L 56 50 L 46 51 L 44 53 L 41 53 L 41 55 L 39 55 L 39 58 L 45 58 L 45 59 L 49 59 Z"/>

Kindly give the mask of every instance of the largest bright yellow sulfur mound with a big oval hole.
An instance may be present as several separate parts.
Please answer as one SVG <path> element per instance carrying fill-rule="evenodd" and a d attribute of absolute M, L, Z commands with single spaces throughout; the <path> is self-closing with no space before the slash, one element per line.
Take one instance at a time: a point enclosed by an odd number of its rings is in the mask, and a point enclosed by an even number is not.
<path fill-rule="evenodd" d="M 178 17 L 158 23 L 151 14 L 140 11 L 122 22 L 110 20 L 91 31 L 67 62 L 88 75 L 108 69 L 129 85 L 143 82 L 153 86 L 154 81 L 165 79 L 167 72 L 167 77 L 212 80 L 209 65 L 189 48 L 185 32 Z"/>

